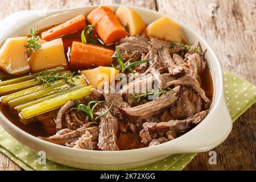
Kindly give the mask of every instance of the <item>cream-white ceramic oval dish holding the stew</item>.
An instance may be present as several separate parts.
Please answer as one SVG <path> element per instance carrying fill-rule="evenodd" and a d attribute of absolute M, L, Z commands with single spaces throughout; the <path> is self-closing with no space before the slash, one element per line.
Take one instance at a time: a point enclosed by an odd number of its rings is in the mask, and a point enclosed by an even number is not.
<path fill-rule="evenodd" d="M 42 29 L 59 24 L 76 15 L 86 15 L 97 6 L 87 6 L 78 9 L 53 10 L 53 11 L 22 11 L 15 13 L 0 22 L 0 46 L 7 38 L 26 36 L 30 28 Z M 118 6 L 110 6 L 115 11 Z M 132 7 L 142 16 L 145 22 L 151 23 L 164 16 L 156 11 Z M 170 17 L 172 18 L 172 17 Z M 203 49 L 208 49 L 206 59 L 213 75 L 214 98 L 210 112 L 203 122 L 195 129 L 170 142 L 154 147 L 141 148 L 129 151 L 87 151 L 77 150 L 57 144 L 49 143 L 33 137 L 13 125 L 2 113 L 0 124 L 19 142 L 34 151 L 45 151 L 47 159 L 67 166 L 83 169 L 126 169 L 154 163 L 172 154 L 209 151 L 218 146 L 228 137 L 232 130 L 232 119 L 226 107 L 222 68 L 213 49 L 196 32 L 184 23 L 176 20 L 183 29 L 184 38 L 188 43 L 199 40 Z"/>

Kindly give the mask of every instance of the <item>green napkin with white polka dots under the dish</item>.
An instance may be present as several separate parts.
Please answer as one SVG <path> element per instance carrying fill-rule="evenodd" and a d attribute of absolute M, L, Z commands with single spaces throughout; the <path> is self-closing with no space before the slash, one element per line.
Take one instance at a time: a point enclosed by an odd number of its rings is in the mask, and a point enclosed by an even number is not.
<path fill-rule="evenodd" d="M 255 86 L 241 77 L 224 71 L 224 92 L 230 115 L 235 121 L 256 102 Z M 20 144 L 0 126 L 0 151 L 24 170 L 79 170 L 47 160 L 38 163 L 38 155 Z M 134 170 L 182 170 L 196 154 L 176 154 L 164 160 Z"/>

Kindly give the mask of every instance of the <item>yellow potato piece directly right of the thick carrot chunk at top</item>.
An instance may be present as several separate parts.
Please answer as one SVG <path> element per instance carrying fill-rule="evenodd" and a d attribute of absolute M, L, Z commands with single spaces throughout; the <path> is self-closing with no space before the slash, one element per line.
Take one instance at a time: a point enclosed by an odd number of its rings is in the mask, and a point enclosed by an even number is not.
<path fill-rule="evenodd" d="M 122 25 L 125 27 L 127 26 L 130 36 L 140 35 L 146 27 L 141 16 L 129 7 L 119 7 L 115 14 Z"/>

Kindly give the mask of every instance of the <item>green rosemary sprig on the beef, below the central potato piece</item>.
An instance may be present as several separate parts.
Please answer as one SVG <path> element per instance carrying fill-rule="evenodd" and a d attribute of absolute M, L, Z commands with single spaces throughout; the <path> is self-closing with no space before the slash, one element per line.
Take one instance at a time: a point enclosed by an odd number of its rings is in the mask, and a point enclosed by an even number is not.
<path fill-rule="evenodd" d="M 85 105 L 85 104 L 81 104 L 79 102 L 79 100 L 75 100 L 75 103 L 76 103 L 77 107 L 74 107 L 71 110 L 82 111 L 83 113 L 88 115 L 88 117 L 92 121 L 97 121 L 98 119 L 103 117 L 105 114 L 107 114 L 112 109 L 112 106 L 113 106 L 113 103 L 112 103 L 112 105 L 109 107 L 108 110 L 106 110 L 104 113 L 102 113 L 102 114 L 98 115 L 96 118 L 94 118 L 94 110 L 97 108 L 97 106 L 101 106 L 101 104 L 107 103 L 106 101 L 90 101 L 87 105 Z"/>

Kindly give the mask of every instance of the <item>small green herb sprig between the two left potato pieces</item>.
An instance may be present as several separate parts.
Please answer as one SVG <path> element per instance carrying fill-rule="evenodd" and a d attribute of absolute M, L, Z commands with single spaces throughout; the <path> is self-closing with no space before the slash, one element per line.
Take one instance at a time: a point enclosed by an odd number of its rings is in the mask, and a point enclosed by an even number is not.
<path fill-rule="evenodd" d="M 30 35 L 31 35 L 31 38 L 28 39 L 27 45 L 24 45 L 26 48 L 29 49 L 27 51 L 27 53 L 29 54 L 41 48 L 41 45 L 38 43 L 38 41 L 41 39 L 40 36 L 38 35 L 38 31 L 35 30 L 34 28 L 31 28 Z"/>

